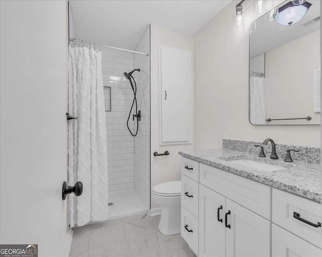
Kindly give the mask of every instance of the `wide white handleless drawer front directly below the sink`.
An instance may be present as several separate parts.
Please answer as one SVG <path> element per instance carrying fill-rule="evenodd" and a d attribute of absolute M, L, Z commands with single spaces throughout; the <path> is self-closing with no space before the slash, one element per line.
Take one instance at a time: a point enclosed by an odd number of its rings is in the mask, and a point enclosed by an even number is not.
<path fill-rule="evenodd" d="M 271 220 L 271 187 L 200 163 L 200 183 Z"/>

